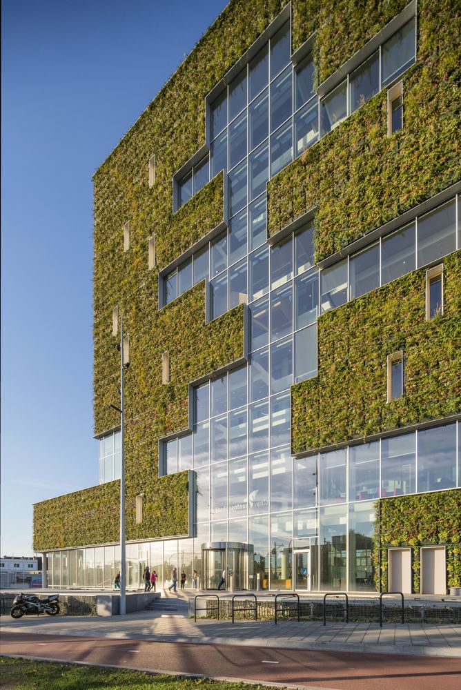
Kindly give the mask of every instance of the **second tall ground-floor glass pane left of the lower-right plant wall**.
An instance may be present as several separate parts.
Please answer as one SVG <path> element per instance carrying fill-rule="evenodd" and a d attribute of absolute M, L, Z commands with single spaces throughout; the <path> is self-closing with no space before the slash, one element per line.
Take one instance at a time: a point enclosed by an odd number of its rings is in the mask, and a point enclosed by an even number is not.
<path fill-rule="evenodd" d="M 320 589 L 342 591 L 346 587 L 347 506 L 320 509 Z"/>

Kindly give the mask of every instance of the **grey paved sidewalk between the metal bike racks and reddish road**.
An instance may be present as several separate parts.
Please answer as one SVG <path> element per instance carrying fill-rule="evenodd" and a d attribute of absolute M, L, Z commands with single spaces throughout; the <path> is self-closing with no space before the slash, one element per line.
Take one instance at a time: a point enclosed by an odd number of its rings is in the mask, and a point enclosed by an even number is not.
<path fill-rule="evenodd" d="M 461 658 L 461 626 L 320 621 L 236 622 L 155 615 L 141 611 L 111 618 L 60 616 L 0 619 L 0 631 L 79 637 L 233 644 L 266 649 L 321 649 Z"/>

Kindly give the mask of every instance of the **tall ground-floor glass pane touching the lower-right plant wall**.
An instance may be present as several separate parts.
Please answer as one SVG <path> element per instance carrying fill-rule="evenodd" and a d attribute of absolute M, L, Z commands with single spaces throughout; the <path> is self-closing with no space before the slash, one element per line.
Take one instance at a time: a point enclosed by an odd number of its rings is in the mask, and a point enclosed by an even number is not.
<path fill-rule="evenodd" d="M 376 591 L 372 560 L 374 538 L 374 504 L 349 506 L 349 589 L 352 591 Z"/>

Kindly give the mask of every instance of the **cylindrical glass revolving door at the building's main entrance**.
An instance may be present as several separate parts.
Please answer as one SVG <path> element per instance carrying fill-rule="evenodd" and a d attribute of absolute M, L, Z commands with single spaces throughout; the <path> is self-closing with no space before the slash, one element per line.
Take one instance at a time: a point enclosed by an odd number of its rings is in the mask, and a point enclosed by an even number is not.
<path fill-rule="evenodd" d="M 253 545 L 241 542 L 202 544 L 202 582 L 204 589 L 217 589 L 225 573 L 222 590 L 248 589 L 253 569 Z M 253 578 L 251 578 L 253 579 Z"/>

